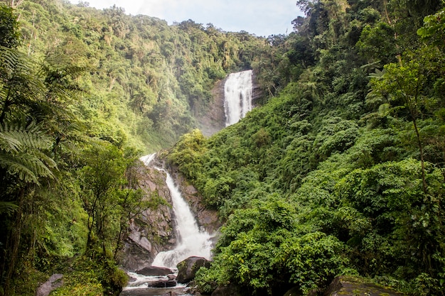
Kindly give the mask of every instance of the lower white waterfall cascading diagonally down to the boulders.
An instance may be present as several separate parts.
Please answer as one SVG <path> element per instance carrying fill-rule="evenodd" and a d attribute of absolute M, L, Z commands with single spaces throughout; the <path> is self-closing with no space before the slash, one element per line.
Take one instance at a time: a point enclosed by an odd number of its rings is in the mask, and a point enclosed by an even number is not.
<path fill-rule="evenodd" d="M 154 155 L 146 155 L 141 160 L 145 165 L 149 165 L 154 160 Z M 166 170 L 161 168 L 156 168 L 156 170 L 166 172 Z M 158 253 L 151 265 L 176 268 L 176 264 L 190 256 L 210 259 L 212 248 L 210 234 L 206 231 L 200 231 L 195 216 L 193 216 L 186 200 L 183 199 L 178 186 L 175 185 L 173 178 L 168 172 L 166 172 L 166 175 L 166 185 L 168 190 L 170 190 L 173 203 L 178 243 L 173 250 Z"/>

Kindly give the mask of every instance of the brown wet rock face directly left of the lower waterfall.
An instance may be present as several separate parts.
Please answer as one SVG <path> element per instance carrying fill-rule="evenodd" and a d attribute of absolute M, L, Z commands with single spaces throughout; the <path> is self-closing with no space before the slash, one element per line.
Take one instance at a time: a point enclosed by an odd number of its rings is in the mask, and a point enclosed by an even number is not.
<path fill-rule="evenodd" d="M 120 264 L 126 270 L 149 266 L 160 251 L 176 244 L 171 196 L 165 184 L 165 174 L 142 164 L 137 174 L 139 188 L 145 192 L 144 198 L 163 199 L 165 204 L 147 209 L 138 219 L 132 219 L 120 256 Z"/>

